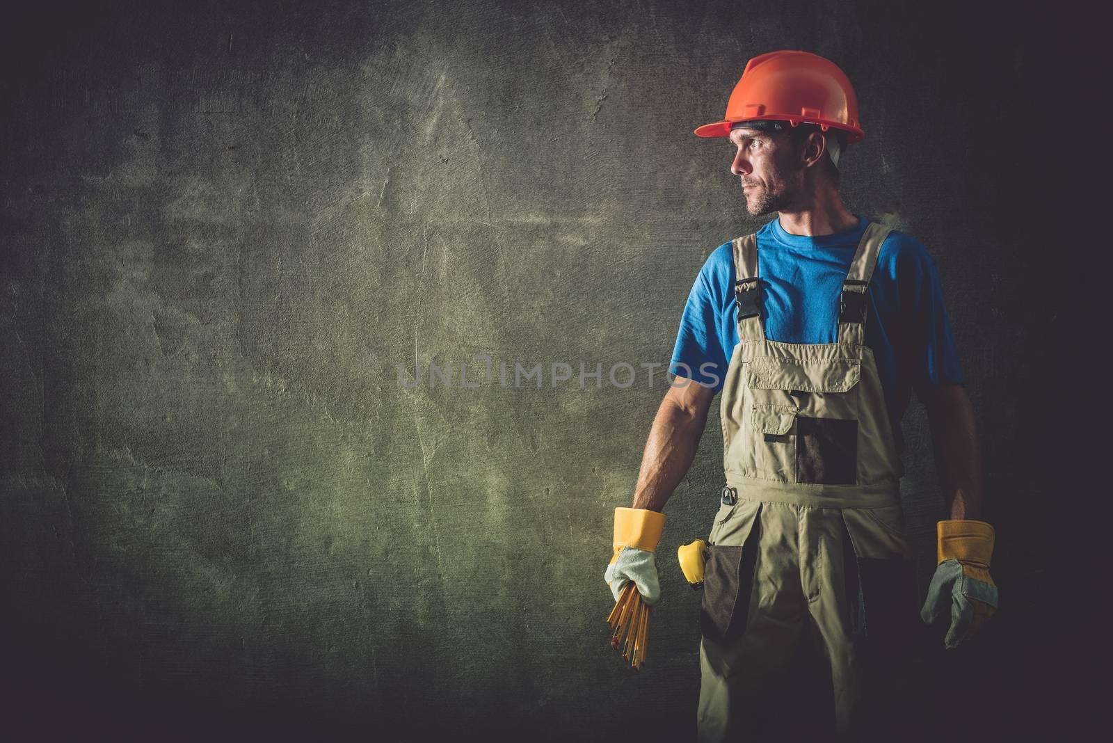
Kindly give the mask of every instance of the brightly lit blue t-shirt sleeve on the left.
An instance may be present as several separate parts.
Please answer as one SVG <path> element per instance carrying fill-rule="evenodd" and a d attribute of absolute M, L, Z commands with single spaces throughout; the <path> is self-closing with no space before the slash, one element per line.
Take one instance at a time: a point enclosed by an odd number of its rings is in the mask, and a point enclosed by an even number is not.
<path fill-rule="evenodd" d="M 729 359 L 722 338 L 726 287 L 733 286 L 735 259 L 727 242 L 700 269 L 680 318 L 669 370 L 716 392 L 722 388 Z"/>

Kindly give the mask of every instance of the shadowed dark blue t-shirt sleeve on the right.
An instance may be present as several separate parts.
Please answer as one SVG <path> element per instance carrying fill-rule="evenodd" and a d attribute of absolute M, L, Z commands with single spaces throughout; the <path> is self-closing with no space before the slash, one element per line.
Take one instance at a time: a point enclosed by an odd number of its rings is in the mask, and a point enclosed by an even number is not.
<path fill-rule="evenodd" d="M 916 397 L 924 402 L 933 386 L 961 385 L 965 379 L 935 260 L 918 240 L 903 234 L 895 237 L 903 326 L 898 355 Z"/>

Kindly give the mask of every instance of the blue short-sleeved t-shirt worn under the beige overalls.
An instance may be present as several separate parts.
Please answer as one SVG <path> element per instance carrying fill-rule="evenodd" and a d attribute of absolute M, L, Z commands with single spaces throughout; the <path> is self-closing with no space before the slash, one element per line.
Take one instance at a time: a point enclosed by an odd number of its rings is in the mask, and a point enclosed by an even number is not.
<path fill-rule="evenodd" d="M 838 339 L 843 280 L 868 225 L 858 217 L 857 227 L 807 237 L 786 232 L 780 220 L 774 219 L 758 230 L 761 321 L 769 340 L 827 344 Z M 731 244 L 725 242 L 696 277 L 672 351 L 674 374 L 717 393 L 738 345 L 733 287 L 733 252 Z M 877 361 L 899 452 L 904 448 L 900 417 L 912 390 L 923 400 L 930 385 L 963 384 L 958 353 L 935 261 L 917 239 L 889 232 L 868 297 L 866 345 Z"/>

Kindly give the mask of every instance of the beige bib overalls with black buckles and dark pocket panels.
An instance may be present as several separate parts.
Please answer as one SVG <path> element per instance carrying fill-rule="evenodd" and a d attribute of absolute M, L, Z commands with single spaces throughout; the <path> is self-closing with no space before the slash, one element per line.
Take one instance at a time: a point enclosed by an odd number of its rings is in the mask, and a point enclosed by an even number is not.
<path fill-rule="evenodd" d="M 889 230 L 866 228 L 831 297 L 834 344 L 766 339 L 757 240 L 733 241 L 740 343 L 722 388 L 727 485 L 708 538 L 700 741 L 750 740 L 759 692 L 807 627 L 830 665 L 837 727 L 851 730 L 866 660 L 915 626 L 902 467 L 864 343 L 866 289 Z"/>

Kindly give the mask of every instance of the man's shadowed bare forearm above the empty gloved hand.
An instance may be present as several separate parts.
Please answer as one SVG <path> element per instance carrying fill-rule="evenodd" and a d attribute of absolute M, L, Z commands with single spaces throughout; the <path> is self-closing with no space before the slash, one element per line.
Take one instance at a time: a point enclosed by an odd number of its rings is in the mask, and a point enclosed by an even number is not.
<path fill-rule="evenodd" d="M 938 385 L 925 400 L 943 502 L 951 518 L 979 518 L 982 452 L 974 406 L 962 385 Z"/>

